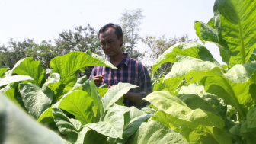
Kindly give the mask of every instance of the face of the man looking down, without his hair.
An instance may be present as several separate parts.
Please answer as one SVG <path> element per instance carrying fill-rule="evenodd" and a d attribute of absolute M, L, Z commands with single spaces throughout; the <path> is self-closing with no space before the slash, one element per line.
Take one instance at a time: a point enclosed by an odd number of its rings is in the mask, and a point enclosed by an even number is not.
<path fill-rule="evenodd" d="M 122 54 L 120 45 L 123 43 L 123 37 L 117 39 L 117 35 L 114 34 L 112 27 L 109 27 L 104 33 L 101 33 L 99 39 L 102 50 L 110 58 Z"/>

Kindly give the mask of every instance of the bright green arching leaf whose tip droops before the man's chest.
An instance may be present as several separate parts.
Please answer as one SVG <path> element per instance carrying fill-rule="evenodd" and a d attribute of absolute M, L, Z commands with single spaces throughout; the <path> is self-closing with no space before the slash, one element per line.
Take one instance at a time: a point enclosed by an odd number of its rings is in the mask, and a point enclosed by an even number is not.
<path fill-rule="evenodd" d="M 65 56 L 57 56 L 50 62 L 52 72 L 60 74 L 60 82 L 69 90 L 77 81 L 78 72 L 82 72 L 86 66 L 107 66 L 116 69 L 110 62 L 94 53 L 70 52 Z"/>

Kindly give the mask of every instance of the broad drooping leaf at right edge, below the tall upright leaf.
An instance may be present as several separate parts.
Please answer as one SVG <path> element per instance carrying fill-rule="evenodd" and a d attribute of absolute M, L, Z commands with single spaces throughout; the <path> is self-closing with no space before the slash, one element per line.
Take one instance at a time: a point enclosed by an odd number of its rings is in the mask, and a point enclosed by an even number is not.
<path fill-rule="evenodd" d="M 251 63 L 236 65 L 224 75 L 215 68 L 205 72 L 191 71 L 185 75 L 185 78 L 189 83 L 201 82 L 207 92 L 216 94 L 226 104 L 235 107 L 239 118 L 243 119 L 248 110 L 255 105 L 254 72 L 256 72 L 256 64 Z"/>

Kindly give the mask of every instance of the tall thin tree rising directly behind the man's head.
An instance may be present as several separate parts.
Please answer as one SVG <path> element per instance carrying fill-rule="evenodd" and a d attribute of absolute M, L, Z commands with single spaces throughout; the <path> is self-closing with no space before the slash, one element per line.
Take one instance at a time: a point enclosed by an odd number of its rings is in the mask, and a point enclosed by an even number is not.
<path fill-rule="evenodd" d="M 135 50 L 139 40 L 139 25 L 141 24 L 142 9 L 125 10 L 120 18 L 120 25 L 123 29 L 123 52 L 129 53 L 134 59 L 138 59 L 141 53 Z"/>

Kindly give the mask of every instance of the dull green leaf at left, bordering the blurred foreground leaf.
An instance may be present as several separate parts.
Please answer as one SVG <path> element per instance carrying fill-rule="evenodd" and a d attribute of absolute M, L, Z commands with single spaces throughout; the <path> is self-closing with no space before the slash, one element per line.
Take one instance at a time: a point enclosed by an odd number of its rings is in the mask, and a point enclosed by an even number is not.
<path fill-rule="evenodd" d="M 50 107 L 53 100 L 53 92 L 47 88 L 39 88 L 33 84 L 20 84 L 21 98 L 29 114 L 35 119 Z"/>

